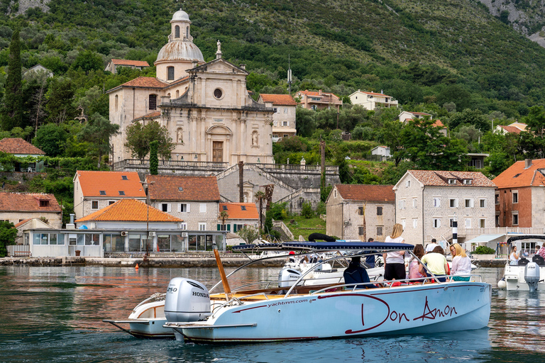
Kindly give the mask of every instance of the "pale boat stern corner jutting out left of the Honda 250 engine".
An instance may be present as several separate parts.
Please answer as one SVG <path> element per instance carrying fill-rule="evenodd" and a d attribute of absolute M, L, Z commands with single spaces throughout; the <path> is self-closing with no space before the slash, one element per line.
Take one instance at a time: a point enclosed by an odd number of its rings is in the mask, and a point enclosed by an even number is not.
<path fill-rule="evenodd" d="M 127 320 L 102 320 L 135 337 L 174 337 L 172 329 L 165 328 L 165 293 L 156 293 L 139 303 Z M 120 324 L 128 324 L 123 328 Z"/>

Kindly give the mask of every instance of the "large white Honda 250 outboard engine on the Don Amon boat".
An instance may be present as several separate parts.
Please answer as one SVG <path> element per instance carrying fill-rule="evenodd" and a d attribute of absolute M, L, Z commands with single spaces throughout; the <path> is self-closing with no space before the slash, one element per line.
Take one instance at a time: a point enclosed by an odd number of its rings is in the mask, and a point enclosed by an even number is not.
<path fill-rule="evenodd" d="M 209 315 L 210 296 L 206 286 L 183 277 L 170 280 L 165 296 L 165 317 L 170 323 L 197 321 Z"/>

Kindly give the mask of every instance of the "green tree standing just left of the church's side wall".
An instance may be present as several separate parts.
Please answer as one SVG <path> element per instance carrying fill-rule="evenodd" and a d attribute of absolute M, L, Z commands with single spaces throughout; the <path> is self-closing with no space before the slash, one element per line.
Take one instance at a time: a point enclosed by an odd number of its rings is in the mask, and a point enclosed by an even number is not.
<path fill-rule="evenodd" d="M 110 138 L 119 133 L 119 125 L 110 121 L 100 113 L 93 113 L 89 116 L 87 123 L 78 134 L 79 140 L 89 143 L 89 151 L 99 157 L 99 168 L 102 155 L 107 155 L 111 150 Z"/>

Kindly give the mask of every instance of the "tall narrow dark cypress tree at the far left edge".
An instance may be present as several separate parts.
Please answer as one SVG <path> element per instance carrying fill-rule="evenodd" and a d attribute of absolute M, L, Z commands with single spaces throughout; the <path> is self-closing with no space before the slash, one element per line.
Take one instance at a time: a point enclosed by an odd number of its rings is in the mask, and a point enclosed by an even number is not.
<path fill-rule="evenodd" d="M 8 77 L 4 95 L 2 129 L 9 131 L 23 125 L 23 81 L 21 75 L 21 40 L 16 28 L 9 44 Z"/>

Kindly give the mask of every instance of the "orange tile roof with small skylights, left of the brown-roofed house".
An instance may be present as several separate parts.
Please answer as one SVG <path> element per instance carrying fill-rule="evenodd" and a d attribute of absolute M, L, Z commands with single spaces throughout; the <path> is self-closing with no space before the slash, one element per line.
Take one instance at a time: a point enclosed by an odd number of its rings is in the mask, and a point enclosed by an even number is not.
<path fill-rule="evenodd" d="M 78 170 L 76 177 L 83 196 L 102 196 L 109 198 L 145 198 L 145 191 L 137 172 L 91 172 Z M 126 180 L 123 179 L 126 177 Z M 103 194 L 100 192 L 104 191 Z M 120 195 L 123 191 L 124 195 Z"/>

